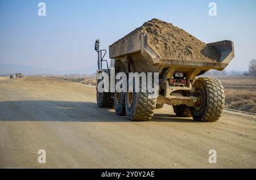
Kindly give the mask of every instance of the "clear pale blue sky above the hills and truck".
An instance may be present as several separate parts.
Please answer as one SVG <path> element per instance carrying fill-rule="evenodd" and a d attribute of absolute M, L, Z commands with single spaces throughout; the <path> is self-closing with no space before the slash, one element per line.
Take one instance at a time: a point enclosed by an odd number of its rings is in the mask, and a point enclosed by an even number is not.
<path fill-rule="evenodd" d="M 38 3 L 46 16 L 38 16 Z M 209 3 L 217 16 L 209 16 Z M 256 58 L 256 1 L 0 1 L 0 63 L 57 70 L 96 66 L 101 48 L 158 18 L 204 42 L 232 40 L 236 57 L 228 70 L 247 70 Z"/>

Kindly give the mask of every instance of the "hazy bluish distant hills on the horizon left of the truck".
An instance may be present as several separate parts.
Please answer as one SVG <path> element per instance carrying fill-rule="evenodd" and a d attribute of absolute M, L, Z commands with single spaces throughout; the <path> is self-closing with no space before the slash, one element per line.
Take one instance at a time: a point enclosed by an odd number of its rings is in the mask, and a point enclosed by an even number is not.
<path fill-rule="evenodd" d="M 39 68 L 24 65 L 8 65 L 0 63 L 0 75 L 16 74 L 18 72 L 24 75 L 65 75 L 65 74 L 94 74 L 97 66 L 84 67 L 75 70 L 54 70 L 50 68 Z"/>

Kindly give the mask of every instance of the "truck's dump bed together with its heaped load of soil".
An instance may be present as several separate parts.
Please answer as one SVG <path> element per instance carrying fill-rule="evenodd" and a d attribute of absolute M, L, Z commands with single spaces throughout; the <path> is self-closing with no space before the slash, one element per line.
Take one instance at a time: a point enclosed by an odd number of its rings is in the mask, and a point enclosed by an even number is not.
<path fill-rule="evenodd" d="M 205 44 L 183 29 L 152 19 L 109 46 L 110 58 L 127 55 L 138 64 L 149 66 L 223 70 L 233 59 L 234 48 L 232 41 Z"/>

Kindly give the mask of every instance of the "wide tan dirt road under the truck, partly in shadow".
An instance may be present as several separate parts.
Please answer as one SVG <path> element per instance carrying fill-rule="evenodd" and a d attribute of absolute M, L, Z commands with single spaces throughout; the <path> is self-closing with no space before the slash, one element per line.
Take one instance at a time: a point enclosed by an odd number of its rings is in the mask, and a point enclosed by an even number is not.
<path fill-rule="evenodd" d="M 256 168 L 255 115 L 225 110 L 203 123 L 166 105 L 151 122 L 131 122 L 95 96 L 63 80 L 0 80 L 0 168 Z"/>

